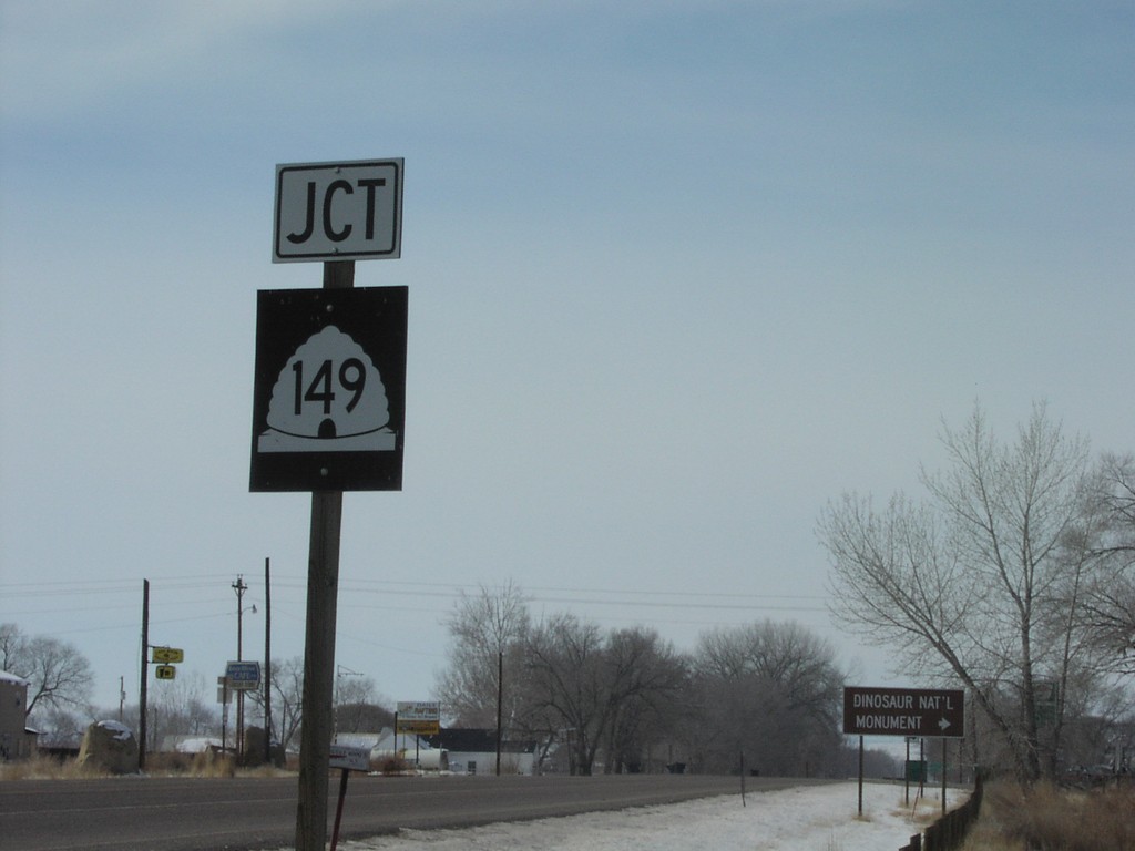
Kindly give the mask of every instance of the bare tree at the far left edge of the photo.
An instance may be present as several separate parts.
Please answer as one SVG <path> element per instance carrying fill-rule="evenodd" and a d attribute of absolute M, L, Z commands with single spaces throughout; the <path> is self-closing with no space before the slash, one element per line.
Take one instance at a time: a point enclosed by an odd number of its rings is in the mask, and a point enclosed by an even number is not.
<path fill-rule="evenodd" d="M 16 624 L 0 624 L 2 669 L 31 683 L 25 715 L 36 708 L 86 708 L 93 677 L 78 648 L 48 637 L 27 638 Z"/>

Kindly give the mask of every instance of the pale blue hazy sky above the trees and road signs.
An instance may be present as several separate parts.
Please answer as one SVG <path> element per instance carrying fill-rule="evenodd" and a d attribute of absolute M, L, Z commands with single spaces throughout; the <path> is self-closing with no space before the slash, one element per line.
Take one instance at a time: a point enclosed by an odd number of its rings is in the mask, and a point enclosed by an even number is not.
<path fill-rule="evenodd" d="M 0 622 L 136 702 L 303 651 L 311 498 L 252 494 L 278 163 L 404 159 L 401 491 L 344 496 L 337 677 L 432 696 L 461 593 L 829 616 L 816 521 L 1035 403 L 1135 449 L 1129 2 L 0 0 Z M 257 606 L 257 612 L 251 606 Z M 154 689 L 170 683 L 151 680 Z"/>

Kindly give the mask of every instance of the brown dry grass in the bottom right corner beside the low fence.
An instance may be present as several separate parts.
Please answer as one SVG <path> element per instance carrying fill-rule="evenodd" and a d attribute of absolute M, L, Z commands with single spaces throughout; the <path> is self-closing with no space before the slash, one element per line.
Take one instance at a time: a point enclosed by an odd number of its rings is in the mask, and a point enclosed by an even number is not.
<path fill-rule="evenodd" d="M 1006 783 L 985 790 L 964 851 L 1135 851 L 1135 789 L 1088 792 Z"/>

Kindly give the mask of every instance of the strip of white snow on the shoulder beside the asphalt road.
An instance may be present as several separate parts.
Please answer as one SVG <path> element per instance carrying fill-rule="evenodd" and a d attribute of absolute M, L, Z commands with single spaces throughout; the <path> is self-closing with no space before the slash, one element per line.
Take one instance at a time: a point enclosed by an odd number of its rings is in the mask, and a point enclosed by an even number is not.
<path fill-rule="evenodd" d="M 941 789 L 903 803 L 901 783 L 867 783 L 863 817 L 858 786 L 835 783 L 779 792 L 707 798 L 688 803 L 591 812 L 456 831 L 403 831 L 398 836 L 342 842 L 343 851 L 898 851 L 941 815 Z M 953 809 L 968 792 L 949 790 Z"/>

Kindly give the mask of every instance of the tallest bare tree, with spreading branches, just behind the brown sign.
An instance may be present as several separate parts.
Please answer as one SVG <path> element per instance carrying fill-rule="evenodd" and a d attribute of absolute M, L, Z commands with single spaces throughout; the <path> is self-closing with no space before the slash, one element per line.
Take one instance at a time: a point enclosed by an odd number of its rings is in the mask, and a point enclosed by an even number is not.
<path fill-rule="evenodd" d="M 923 470 L 927 503 L 899 495 L 876 512 L 848 495 L 822 514 L 834 615 L 889 646 L 900 669 L 960 680 L 1035 778 L 1039 692 L 1069 682 L 1077 657 L 1091 564 L 1069 541 L 1084 538 L 1086 443 L 1044 405 L 1012 445 L 994 439 L 980 405 L 941 440 L 950 463 Z"/>

